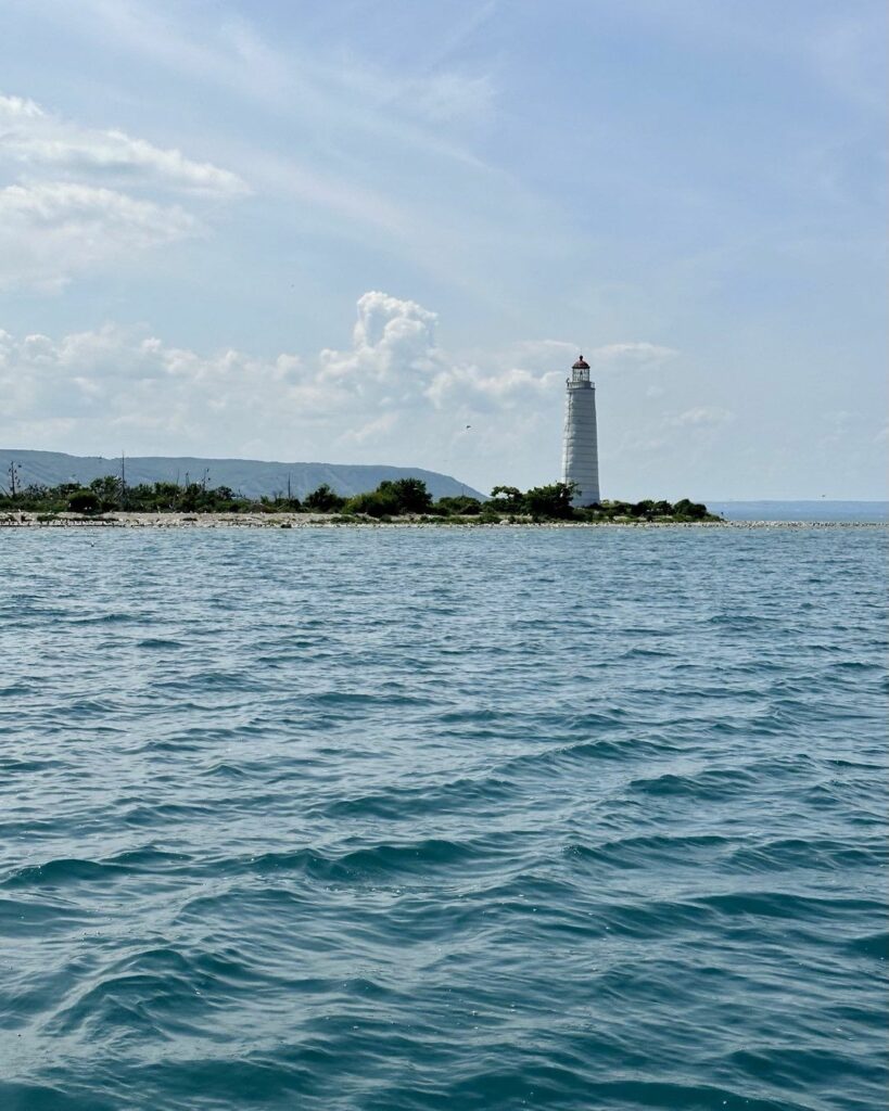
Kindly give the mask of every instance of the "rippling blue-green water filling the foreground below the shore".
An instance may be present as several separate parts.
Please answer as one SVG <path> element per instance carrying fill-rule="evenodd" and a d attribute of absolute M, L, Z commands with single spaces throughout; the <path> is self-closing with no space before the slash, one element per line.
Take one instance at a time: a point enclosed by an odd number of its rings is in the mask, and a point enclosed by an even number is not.
<path fill-rule="evenodd" d="M 882 1105 L 885 539 L 0 534 L 0 1104 Z"/>

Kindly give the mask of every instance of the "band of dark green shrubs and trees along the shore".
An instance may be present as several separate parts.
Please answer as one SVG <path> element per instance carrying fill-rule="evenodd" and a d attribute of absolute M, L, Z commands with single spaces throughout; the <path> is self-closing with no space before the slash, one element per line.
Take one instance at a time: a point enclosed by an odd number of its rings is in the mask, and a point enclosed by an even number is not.
<path fill-rule="evenodd" d="M 119 478 L 106 476 L 89 486 L 63 483 L 57 487 L 26 486 L 13 491 L 0 488 L 0 511 L 26 511 L 52 517 L 77 513 L 98 517 L 102 513 L 324 513 L 338 521 L 391 520 L 398 517 L 423 518 L 442 523 L 498 523 L 500 521 L 716 521 L 700 502 L 689 501 L 603 501 L 576 509 L 571 506 L 573 488 L 565 482 L 532 487 L 498 486 L 486 501 L 468 494 L 433 501 L 420 479 L 381 482 L 376 490 L 344 498 L 322 484 L 302 500 L 273 494 L 246 498 L 228 487 L 206 482 L 154 482 L 124 486 Z"/>

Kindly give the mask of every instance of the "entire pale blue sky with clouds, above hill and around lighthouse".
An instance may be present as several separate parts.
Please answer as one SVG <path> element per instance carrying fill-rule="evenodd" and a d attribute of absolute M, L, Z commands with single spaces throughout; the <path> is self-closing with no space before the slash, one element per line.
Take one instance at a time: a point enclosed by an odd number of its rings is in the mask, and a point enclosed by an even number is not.
<path fill-rule="evenodd" d="M 887 497 L 882 0 L 0 0 L 0 447 Z"/>

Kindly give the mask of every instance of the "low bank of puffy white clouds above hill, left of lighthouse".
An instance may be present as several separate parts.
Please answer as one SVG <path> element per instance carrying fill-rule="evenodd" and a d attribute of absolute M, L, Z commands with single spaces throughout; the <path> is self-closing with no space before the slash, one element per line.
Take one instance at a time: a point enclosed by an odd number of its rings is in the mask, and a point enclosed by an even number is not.
<path fill-rule="evenodd" d="M 575 344 L 461 358 L 439 346 L 437 326 L 418 302 L 369 291 L 350 346 L 307 356 L 207 354 L 113 326 L 59 340 L 3 332 L 0 442 L 391 462 L 481 486 L 558 478 Z"/>

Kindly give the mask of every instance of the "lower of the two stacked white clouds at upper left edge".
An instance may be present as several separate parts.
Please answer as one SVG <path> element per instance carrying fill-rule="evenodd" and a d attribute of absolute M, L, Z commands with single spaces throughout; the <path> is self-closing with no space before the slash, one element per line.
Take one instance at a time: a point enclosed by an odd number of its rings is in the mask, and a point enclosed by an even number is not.
<path fill-rule="evenodd" d="M 200 229 L 178 206 L 93 186 L 50 182 L 0 189 L 0 289 L 53 290 L 74 273 L 129 259 Z"/>

